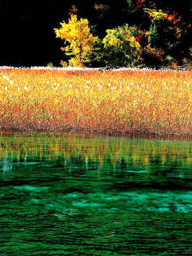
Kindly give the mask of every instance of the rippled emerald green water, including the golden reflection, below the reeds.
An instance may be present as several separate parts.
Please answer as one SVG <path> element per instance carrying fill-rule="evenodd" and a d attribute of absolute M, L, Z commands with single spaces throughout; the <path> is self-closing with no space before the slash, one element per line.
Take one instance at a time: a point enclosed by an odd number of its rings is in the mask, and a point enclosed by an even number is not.
<path fill-rule="evenodd" d="M 192 142 L 0 136 L 0 255 L 192 255 Z"/>

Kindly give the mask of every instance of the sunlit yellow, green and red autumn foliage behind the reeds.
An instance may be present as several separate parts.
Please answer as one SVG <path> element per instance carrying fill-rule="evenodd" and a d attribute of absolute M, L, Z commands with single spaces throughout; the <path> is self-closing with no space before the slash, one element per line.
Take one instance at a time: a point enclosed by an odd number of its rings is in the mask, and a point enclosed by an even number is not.
<path fill-rule="evenodd" d="M 110 5 L 106 4 L 95 3 L 93 9 L 98 20 L 110 13 Z M 190 43 L 184 44 L 183 40 L 187 40 L 191 24 L 183 22 L 176 10 L 153 0 L 127 0 L 127 10 L 122 12 L 131 22 L 106 28 L 105 35 L 100 36 L 91 34 L 87 19 L 77 19 L 77 10 L 72 5 L 69 23 L 63 21 L 60 29 L 55 29 L 57 37 L 68 43 L 61 49 L 66 55 L 73 55 L 68 64 L 61 61 L 63 66 L 94 67 L 95 60 L 97 66 L 105 68 L 177 68 L 184 64 Z"/>

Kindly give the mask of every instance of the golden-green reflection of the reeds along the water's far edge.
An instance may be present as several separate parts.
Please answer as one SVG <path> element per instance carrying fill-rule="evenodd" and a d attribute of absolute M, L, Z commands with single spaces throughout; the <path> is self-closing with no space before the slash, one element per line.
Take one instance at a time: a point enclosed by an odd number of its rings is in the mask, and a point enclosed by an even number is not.
<path fill-rule="evenodd" d="M 15 160 L 78 159 L 78 162 L 137 164 L 150 166 L 158 162 L 192 164 L 192 144 L 187 141 L 132 140 L 128 138 L 82 137 L 63 133 L 60 136 L 25 135 L 1 136 L 0 159 Z"/>

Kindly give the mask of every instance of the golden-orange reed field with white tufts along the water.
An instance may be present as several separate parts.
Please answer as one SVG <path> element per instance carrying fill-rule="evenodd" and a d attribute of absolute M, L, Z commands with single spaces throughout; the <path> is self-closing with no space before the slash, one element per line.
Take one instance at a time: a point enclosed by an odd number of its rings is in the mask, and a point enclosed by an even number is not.
<path fill-rule="evenodd" d="M 0 68 L 0 129 L 192 133 L 192 72 Z"/>

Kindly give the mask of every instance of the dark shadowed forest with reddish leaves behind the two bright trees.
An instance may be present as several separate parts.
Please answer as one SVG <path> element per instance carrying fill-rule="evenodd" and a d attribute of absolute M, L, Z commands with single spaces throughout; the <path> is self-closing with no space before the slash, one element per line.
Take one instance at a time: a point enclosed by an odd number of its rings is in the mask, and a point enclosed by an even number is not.
<path fill-rule="evenodd" d="M 121 27 L 142 49 L 144 66 L 180 66 L 191 62 L 192 1 L 174 0 L 33 0 L 0 1 L 0 65 L 60 65 L 67 60 L 54 28 L 71 15 L 86 18 L 101 40 Z M 119 30 L 120 31 L 120 30 Z M 108 62 L 109 63 L 109 62 Z M 104 66 L 94 61 L 91 66 Z M 120 64 L 117 64 L 117 66 Z"/>

